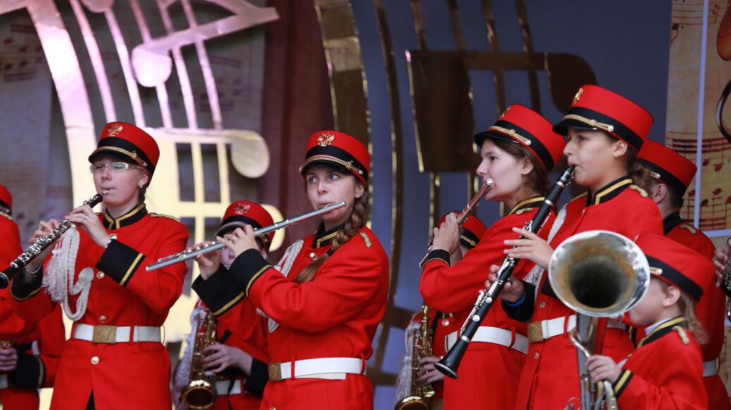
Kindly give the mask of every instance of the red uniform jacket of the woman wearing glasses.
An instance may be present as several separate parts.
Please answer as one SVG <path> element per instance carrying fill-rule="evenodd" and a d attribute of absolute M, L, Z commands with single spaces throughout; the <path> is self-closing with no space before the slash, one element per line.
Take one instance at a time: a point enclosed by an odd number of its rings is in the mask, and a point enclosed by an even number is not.
<path fill-rule="evenodd" d="M 181 295 L 186 266 L 178 263 L 147 272 L 158 258 L 180 252 L 188 232 L 185 225 L 164 215 L 148 214 L 144 205 L 113 219 L 99 219 L 116 235 L 106 250 L 83 231 L 75 264 L 94 268 L 86 325 L 154 326 L 164 323 Z M 45 317 L 56 303 L 41 289 L 41 278 L 12 281 L 15 312 L 27 318 Z M 76 297 L 69 295 L 75 311 Z M 72 329 L 73 335 L 74 329 Z M 156 341 L 92 343 L 69 339 L 61 355 L 51 409 L 84 409 L 91 392 L 96 409 L 163 409 L 170 407 L 170 356 Z"/>

